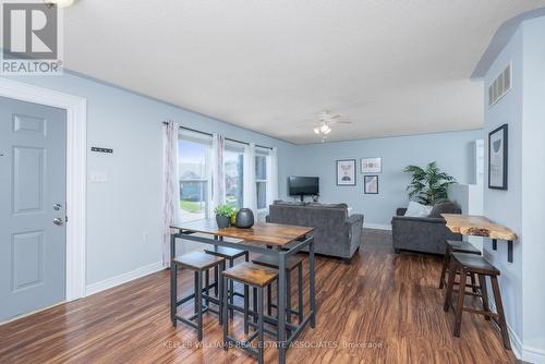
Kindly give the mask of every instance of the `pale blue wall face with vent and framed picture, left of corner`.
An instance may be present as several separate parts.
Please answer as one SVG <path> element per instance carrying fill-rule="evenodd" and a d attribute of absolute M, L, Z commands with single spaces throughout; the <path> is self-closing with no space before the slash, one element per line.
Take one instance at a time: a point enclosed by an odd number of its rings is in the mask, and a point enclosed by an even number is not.
<path fill-rule="evenodd" d="M 487 107 L 488 85 L 512 61 L 512 89 L 494 107 Z M 484 215 L 489 219 L 502 223 L 518 234 L 521 232 L 521 158 L 522 158 L 522 28 L 520 27 L 498 58 L 491 65 L 484 77 L 485 93 L 485 150 L 488 150 L 488 133 L 496 128 L 508 123 L 508 190 L 484 189 Z M 486 158 L 488 153 L 486 151 Z M 488 160 L 486 159 L 486 166 Z M 488 181 L 488 171 L 485 170 L 485 181 Z M 486 182 L 487 183 L 487 182 Z M 489 240 L 484 240 L 485 257 L 501 270 L 499 279 L 507 321 L 514 335 L 522 337 L 522 254 L 521 244 L 514 245 L 513 264 L 507 263 L 507 244 L 499 244 L 498 251 L 492 250 Z"/>

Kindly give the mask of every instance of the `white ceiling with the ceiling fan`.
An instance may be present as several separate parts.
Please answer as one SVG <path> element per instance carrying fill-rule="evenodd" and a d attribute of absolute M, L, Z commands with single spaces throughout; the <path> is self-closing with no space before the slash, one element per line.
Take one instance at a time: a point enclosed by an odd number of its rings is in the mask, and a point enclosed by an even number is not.
<path fill-rule="evenodd" d="M 469 80 L 495 31 L 545 0 L 80 0 L 65 65 L 293 143 L 481 128 Z M 183 122 L 180 120 L 180 122 Z"/>

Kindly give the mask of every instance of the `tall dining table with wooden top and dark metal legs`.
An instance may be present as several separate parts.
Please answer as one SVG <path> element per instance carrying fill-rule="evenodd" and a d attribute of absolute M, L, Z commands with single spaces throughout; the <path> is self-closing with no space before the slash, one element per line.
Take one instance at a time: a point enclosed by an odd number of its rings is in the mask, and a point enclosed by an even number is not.
<path fill-rule="evenodd" d="M 219 229 L 216 220 L 204 219 L 170 226 L 170 258 L 177 256 L 177 239 L 239 248 L 253 253 L 274 256 L 278 259 L 278 317 L 265 317 L 269 324 L 278 328 L 278 362 L 286 363 L 286 352 L 302 330 L 310 325 L 316 325 L 315 299 L 315 262 L 314 262 L 314 228 L 257 222 L 251 228 L 230 226 Z M 286 298 L 287 269 L 286 259 L 303 250 L 308 251 L 308 312 L 296 325 L 287 321 Z M 217 283 L 217 282 L 216 282 Z M 287 335 L 288 333 L 288 335 Z"/>

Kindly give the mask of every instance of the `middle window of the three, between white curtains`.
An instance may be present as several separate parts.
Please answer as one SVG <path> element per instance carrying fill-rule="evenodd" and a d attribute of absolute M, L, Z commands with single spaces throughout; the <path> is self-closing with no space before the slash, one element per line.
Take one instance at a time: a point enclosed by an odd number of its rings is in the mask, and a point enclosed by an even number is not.
<path fill-rule="evenodd" d="M 226 174 L 226 203 L 237 208 L 244 207 L 244 149 L 226 143 L 223 153 L 223 170 Z"/>

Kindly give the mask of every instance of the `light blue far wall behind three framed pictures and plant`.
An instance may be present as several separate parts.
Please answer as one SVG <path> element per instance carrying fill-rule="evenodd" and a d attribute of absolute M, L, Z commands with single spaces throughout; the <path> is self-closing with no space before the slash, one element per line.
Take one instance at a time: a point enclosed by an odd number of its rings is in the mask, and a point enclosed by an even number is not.
<path fill-rule="evenodd" d="M 402 172 L 405 166 L 424 166 L 435 160 L 458 182 L 472 182 L 472 142 L 477 138 L 482 138 L 482 130 L 305 145 L 298 147 L 296 174 L 320 178 L 322 202 L 348 203 L 353 213 L 365 215 L 365 225 L 386 228 L 396 208 L 408 204 L 405 187 L 411 179 Z M 363 157 L 383 159 L 378 195 L 363 193 Z M 356 159 L 356 186 L 336 185 L 337 159 Z"/>

